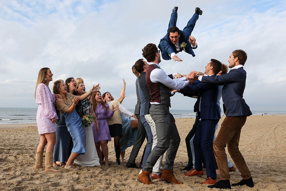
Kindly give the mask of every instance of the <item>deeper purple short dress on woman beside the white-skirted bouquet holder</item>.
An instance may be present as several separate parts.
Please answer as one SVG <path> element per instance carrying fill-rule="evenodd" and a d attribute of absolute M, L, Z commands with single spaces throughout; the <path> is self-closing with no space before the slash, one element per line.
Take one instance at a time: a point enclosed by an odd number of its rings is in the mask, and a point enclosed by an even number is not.
<path fill-rule="evenodd" d="M 99 143 L 100 141 L 111 141 L 110 133 L 106 118 L 111 118 L 113 116 L 113 111 L 110 111 L 109 105 L 105 104 L 106 107 L 102 108 L 102 103 L 99 106 L 95 105 L 96 118 L 98 121 L 99 133 L 97 133 L 96 123 L 92 123 L 92 131 L 94 136 L 94 142 Z"/>

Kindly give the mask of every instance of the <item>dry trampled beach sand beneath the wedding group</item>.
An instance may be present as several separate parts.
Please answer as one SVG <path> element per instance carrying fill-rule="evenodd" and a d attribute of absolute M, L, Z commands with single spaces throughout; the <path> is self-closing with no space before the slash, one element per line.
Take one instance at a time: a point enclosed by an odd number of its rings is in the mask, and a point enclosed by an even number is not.
<path fill-rule="evenodd" d="M 223 119 L 220 124 L 222 121 Z M 1 125 L 0 190 L 218 190 L 198 184 L 204 181 L 203 177 L 184 176 L 180 171 L 188 161 L 184 138 L 193 123 L 192 118 L 176 119 L 182 140 L 175 159 L 174 174 L 184 182 L 181 185 L 166 184 L 158 180 L 155 180 L 153 185 L 137 182 L 139 171 L 125 167 L 132 147 L 126 150 L 125 162 L 116 165 L 113 141 L 108 143 L 111 164 L 108 168 L 81 167 L 79 171 L 66 171 L 59 167 L 58 169 L 63 171 L 58 173 L 44 172 L 43 169 L 34 170 L 35 150 L 39 143 L 37 127 L 3 129 L 7 125 Z M 285 115 L 248 117 L 241 132 L 240 151 L 252 173 L 255 185 L 254 188 L 233 187 L 233 190 L 286 190 L 285 143 Z M 136 159 L 137 164 L 142 151 L 143 148 Z M 238 170 L 231 172 L 231 183 L 240 180 Z"/>

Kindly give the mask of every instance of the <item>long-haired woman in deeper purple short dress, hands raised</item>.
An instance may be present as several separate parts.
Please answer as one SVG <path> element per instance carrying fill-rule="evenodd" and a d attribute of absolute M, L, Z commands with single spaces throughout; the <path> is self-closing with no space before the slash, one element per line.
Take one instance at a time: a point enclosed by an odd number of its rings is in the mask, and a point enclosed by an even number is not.
<path fill-rule="evenodd" d="M 92 124 L 96 151 L 100 160 L 100 164 L 102 164 L 103 153 L 105 157 L 105 166 L 108 166 L 107 141 L 111 141 L 111 137 L 106 119 L 111 118 L 114 111 L 118 110 L 119 106 L 112 107 L 112 111 L 110 111 L 109 105 L 102 101 L 101 93 L 99 91 L 92 94 L 92 105 L 98 121 L 98 128 L 96 128 L 95 123 Z M 102 151 L 100 150 L 100 146 Z"/>

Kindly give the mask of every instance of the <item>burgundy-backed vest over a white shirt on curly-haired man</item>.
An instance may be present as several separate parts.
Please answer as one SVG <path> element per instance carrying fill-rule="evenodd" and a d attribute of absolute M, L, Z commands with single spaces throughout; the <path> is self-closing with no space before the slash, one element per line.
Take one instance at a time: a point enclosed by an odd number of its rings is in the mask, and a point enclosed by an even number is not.
<path fill-rule="evenodd" d="M 150 102 L 162 103 L 171 107 L 169 88 L 160 82 L 153 83 L 150 80 L 150 73 L 155 68 L 159 67 L 156 64 L 151 64 L 146 71 L 146 82 L 151 95 Z M 161 68 L 159 69 L 162 70 Z"/>

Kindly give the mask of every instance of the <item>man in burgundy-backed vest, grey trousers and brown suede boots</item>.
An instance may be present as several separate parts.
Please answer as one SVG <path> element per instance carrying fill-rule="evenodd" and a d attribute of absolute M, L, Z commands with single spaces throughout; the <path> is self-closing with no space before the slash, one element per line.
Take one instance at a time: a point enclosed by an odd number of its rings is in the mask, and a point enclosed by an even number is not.
<path fill-rule="evenodd" d="M 169 89 L 176 90 L 188 85 L 191 73 L 182 78 L 171 79 L 160 68 L 161 55 L 155 44 L 147 44 L 142 51 L 142 55 L 149 62 L 146 70 L 146 82 L 151 95 L 150 115 L 156 126 L 158 143 L 151 151 L 142 173 L 138 176 L 138 181 L 143 184 L 153 184 L 150 179 L 153 166 L 159 157 L 166 152 L 164 172 L 160 180 L 172 184 L 182 184 L 173 174 L 174 159 L 180 144 L 180 135 L 175 119 L 169 111 L 169 107 L 171 107 Z"/>

